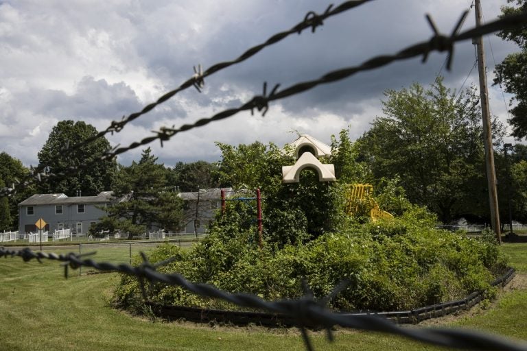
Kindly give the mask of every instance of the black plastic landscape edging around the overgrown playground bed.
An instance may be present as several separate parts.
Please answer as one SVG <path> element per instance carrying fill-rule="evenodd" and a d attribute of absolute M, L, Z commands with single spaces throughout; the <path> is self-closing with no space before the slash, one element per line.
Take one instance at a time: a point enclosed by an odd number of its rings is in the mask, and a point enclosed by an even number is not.
<path fill-rule="evenodd" d="M 505 287 L 515 276 L 514 268 L 508 269 L 503 276 L 500 276 L 491 285 L 493 287 Z M 467 310 L 483 300 L 483 292 L 476 291 L 461 300 L 443 302 L 431 306 L 413 308 L 409 311 L 393 312 L 351 312 L 341 313 L 342 315 L 378 315 L 391 319 L 397 324 L 415 324 L 425 319 L 443 317 L 457 311 Z M 295 320 L 285 315 L 266 312 L 244 312 L 244 311 L 223 311 L 208 308 L 169 306 L 148 303 L 152 310 L 159 317 L 172 320 L 185 319 L 190 322 L 213 323 L 213 324 L 235 324 L 247 325 L 256 324 L 259 326 L 281 327 L 294 326 Z M 317 326 L 307 326 L 316 328 Z"/>

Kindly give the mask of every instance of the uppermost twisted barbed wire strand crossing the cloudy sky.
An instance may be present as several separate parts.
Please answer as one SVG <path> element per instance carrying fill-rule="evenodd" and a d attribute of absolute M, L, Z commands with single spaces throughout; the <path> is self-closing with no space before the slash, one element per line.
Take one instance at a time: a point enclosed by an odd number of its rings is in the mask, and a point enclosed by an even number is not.
<path fill-rule="evenodd" d="M 198 67 L 193 67 L 194 69 L 194 75 L 190 77 L 188 80 L 180 84 L 178 88 L 175 88 L 174 90 L 170 90 L 169 92 L 165 93 L 163 96 L 159 97 L 155 102 L 152 104 L 148 104 L 145 106 L 141 111 L 134 112 L 132 114 L 129 114 L 128 117 L 123 116 L 123 118 L 120 121 L 112 121 L 110 125 L 106 128 L 106 130 L 102 130 L 101 132 L 98 132 L 97 134 L 90 136 L 89 138 L 84 139 L 83 141 L 79 143 L 75 143 L 74 145 L 67 145 L 65 148 L 60 150 L 58 154 L 55 156 L 55 158 L 52 158 L 50 162 L 54 159 L 62 158 L 65 155 L 73 152 L 75 149 L 80 149 L 81 147 L 84 147 L 85 145 L 88 145 L 89 143 L 93 143 L 93 141 L 96 141 L 99 138 L 102 138 L 103 136 L 106 136 L 106 134 L 112 134 L 113 133 L 119 133 L 123 128 L 130 123 L 131 121 L 134 121 L 135 119 L 138 119 L 143 114 L 146 114 L 156 108 L 156 106 L 159 106 L 160 104 L 163 104 L 165 101 L 171 99 L 176 95 L 177 93 L 180 93 L 183 90 L 186 90 L 187 88 L 194 86 L 196 90 L 198 90 L 199 93 L 201 93 L 202 88 L 204 88 L 204 78 L 209 77 L 210 75 L 213 75 L 214 73 L 218 73 L 219 71 L 222 71 L 223 69 L 226 69 L 229 66 L 233 66 L 234 64 L 238 64 L 240 62 L 243 62 L 245 60 L 248 60 L 248 58 L 251 58 L 255 56 L 259 51 L 264 49 L 265 47 L 269 47 L 270 45 L 276 44 L 279 41 L 287 38 L 288 36 L 292 34 L 301 34 L 304 29 L 307 29 L 309 27 L 312 28 L 312 33 L 316 31 L 316 27 L 319 27 L 323 25 L 323 21 L 325 19 L 328 19 L 331 16 L 335 16 L 337 14 L 340 14 L 344 11 L 351 10 L 353 8 L 358 7 L 359 5 L 362 5 L 364 3 L 367 3 L 369 1 L 373 0 L 349 0 L 345 1 L 344 3 L 341 3 L 336 8 L 333 8 L 333 4 L 329 5 L 325 12 L 323 14 L 317 14 L 314 11 L 309 11 L 304 17 L 304 20 L 300 23 L 297 23 L 292 27 L 291 29 L 279 32 L 277 34 L 274 34 L 268 38 L 264 43 L 261 43 L 259 45 L 255 45 L 254 47 L 250 47 L 247 49 L 242 55 L 240 55 L 238 58 L 230 61 L 225 62 L 219 62 L 216 64 L 213 64 L 209 69 L 202 71 L 201 64 L 198 64 Z M 333 10 L 332 10 L 333 9 Z M 43 170 L 45 166 L 36 168 L 36 172 L 40 172 Z"/>

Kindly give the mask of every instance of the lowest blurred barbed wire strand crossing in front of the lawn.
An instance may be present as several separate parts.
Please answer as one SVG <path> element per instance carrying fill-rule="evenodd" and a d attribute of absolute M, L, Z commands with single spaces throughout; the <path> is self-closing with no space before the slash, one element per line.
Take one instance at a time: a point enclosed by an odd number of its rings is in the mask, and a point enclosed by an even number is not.
<path fill-rule="evenodd" d="M 331 328 L 338 325 L 347 328 L 401 335 L 417 341 L 450 348 L 462 348 L 466 350 L 527 351 L 526 344 L 509 341 L 501 337 L 490 336 L 483 334 L 482 332 L 454 330 L 449 328 L 404 328 L 377 315 L 344 315 L 343 313 L 330 311 L 326 308 L 327 302 L 348 286 L 347 281 L 340 282 L 340 284 L 337 285 L 329 295 L 319 300 L 314 298 L 312 291 L 304 282 L 303 286 L 305 295 L 302 298 L 297 300 L 267 301 L 248 293 L 229 293 L 217 289 L 212 285 L 194 284 L 180 274 L 163 274 L 156 271 L 157 267 L 161 267 L 162 265 L 173 261 L 173 258 L 152 264 L 148 261 L 147 256 L 144 253 L 141 253 L 143 263 L 138 266 L 132 266 L 126 263 L 114 265 L 112 263 L 97 263 L 91 259 L 82 259 L 82 256 L 84 255 L 75 253 L 47 254 L 45 252 L 33 252 L 29 247 L 26 247 L 23 250 L 9 250 L 6 247 L 0 247 L 0 257 L 15 256 L 21 257 L 25 262 L 36 259 L 42 263 L 44 258 L 62 262 L 65 266 L 66 278 L 68 267 L 72 269 L 91 267 L 98 271 L 114 271 L 135 276 L 139 280 L 144 297 L 146 297 L 145 281 L 150 283 L 161 282 L 167 285 L 183 287 L 188 291 L 205 298 L 220 299 L 226 302 L 231 302 L 240 307 L 259 308 L 272 313 L 279 313 L 296 321 L 298 328 L 301 329 L 305 346 L 309 351 L 314 349 L 309 341 L 307 330 L 304 327 L 305 325 L 318 325 L 324 327 L 327 330 L 327 337 L 330 341 L 333 340 Z"/>

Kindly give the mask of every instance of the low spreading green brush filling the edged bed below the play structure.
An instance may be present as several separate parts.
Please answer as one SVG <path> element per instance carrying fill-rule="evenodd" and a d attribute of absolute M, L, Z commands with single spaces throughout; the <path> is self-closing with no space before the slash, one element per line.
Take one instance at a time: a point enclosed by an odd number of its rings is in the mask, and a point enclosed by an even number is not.
<path fill-rule="evenodd" d="M 303 295 L 303 278 L 317 298 L 347 279 L 347 289 L 331 301 L 332 308 L 344 310 L 401 310 L 490 291 L 489 282 L 506 267 L 499 247 L 486 237 L 469 239 L 463 233 L 436 230 L 430 226 L 433 218 L 413 208 L 397 219 L 325 232 L 303 245 L 277 247 L 266 241 L 259 249 L 255 227 L 239 230 L 233 216 L 232 223 L 213 226 L 193 250 L 182 252 L 164 244 L 150 259 L 175 257 L 159 270 L 268 300 Z M 155 285 L 148 293 L 150 300 L 163 304 L 233 308 L 179 287 Z M 141 311 L 137 281 L 124 276 L 115 300 Z"/>

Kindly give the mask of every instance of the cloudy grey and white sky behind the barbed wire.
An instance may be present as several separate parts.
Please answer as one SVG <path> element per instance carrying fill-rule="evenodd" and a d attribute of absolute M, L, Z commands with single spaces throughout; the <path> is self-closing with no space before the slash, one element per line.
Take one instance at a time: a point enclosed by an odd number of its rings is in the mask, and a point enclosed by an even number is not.
<path fill-rule="evenodd" d="M 113 136 L 126 146 L 163 125 L 178 127 L 261 94 L 262 84 L 290 86 L 379 54 L 428 40 L 431 14 L 449 34 L 471 0 L 376 0 L 333 16 L 316 33 L 305 30 L 268 47 L 252 59 L 208 77 L 202 93 L 187 89 Z M 336 2 L 337 4 L 340 2 Z M 25 165 L 37 154 L 51 128 L 65 119 L 104 130 L 110 121 L 137 112 L 193 74 L 217 62 L 237 58 L 249 47 L 290 29 L 309 11 L 323 12 L 321 0 L 0 0 L 0 151 Z M 496 19 L 506 0 L 482 0 L 486 21 Z M 474 26 L 474 11 L 462 29 Z M 487 71 L 517 47 L 497 36 L 484 38 Z M 492 50 L 491 50 L 492 49 Z M 266 117 L 242 112 L 225 121 L 178 134 L 154 154 L 165 165 L 178 161 L 218 160 L 215 141 L 276 143 L 294 140 L 292 131 L 329 143 L 331 134 L 349 128 L 352 138 L 382 115 L 388 88 L 412 82 L 428 85 L 441 70 L 445 53 L 396 62 L 359 73 L 307 93 L 274 101 Z M 459 90 L 477 84 L 470 40 L 456 45 L 445 83 Z M 467 79 L 468 77 L 468 79 Z M 506 121 L 506 103 L 491 86 L 491 112 Z M 510 96 L 505 96 L 507 101 Z M 513 141 L 511 138 L 507 141 Z M 119 156 L 128 165 L 141 149 Z"/>

